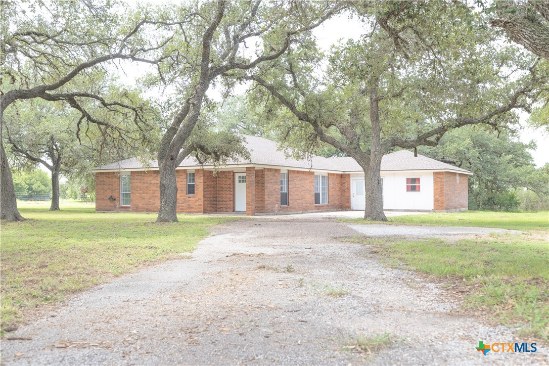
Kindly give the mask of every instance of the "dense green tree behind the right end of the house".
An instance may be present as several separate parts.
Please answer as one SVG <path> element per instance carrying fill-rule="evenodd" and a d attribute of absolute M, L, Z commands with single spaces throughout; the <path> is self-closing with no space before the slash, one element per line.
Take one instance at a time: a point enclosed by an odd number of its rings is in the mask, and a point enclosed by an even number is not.
<path fill-rule="evenodd" d="M 509 211 L 520 204 L 516 190 L 528 189 L 541 201 L 549 194 L 547 176 L 528 151 L 535 148 L 505 130 L 467 126 L 446 133 L 438 146 L 421 153 L 474 173 L 468 179 L 469 209 Z"/>

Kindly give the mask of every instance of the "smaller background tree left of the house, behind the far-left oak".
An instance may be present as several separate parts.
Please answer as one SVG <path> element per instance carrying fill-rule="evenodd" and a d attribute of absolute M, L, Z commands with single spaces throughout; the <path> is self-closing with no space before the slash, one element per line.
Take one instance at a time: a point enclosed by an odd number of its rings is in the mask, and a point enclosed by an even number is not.
<path fill-rule="evenodd" d="M 137 92 L 119 88 L 107 81 L 97 82 L 99 87 L 88 85 L 87 88 L 106 89 L 95 91 L 95 94 L 109 95 L 110 99 L 124 101 L 126 104 L 138 105 L 141 114 L 150 111 L 144 108 L 145 103 L 139 99 Z M 146 153 L 154 141 L 154 131 L 148 131 L 144 139 L 143 131 L 135 131 L 131 115 L 125 110 L 109 110 L 103 106 L 90 105 L 87 110 L 110 126 L 116 126 L 123 133 L 109 138 L 102 135 L 97 128 L 78 131 L 81 116 L 79 113 L 60 102 L 46 102 L 41 99 L 20 100 L 4 115 L 7 145 L 12 154 L 25 160 L 42 164 L 51 172 L 52 204 L 50 211 L 59 210 L 59 178 L 63 173 L 71 177 L 75 173 L 87 173 L 85 170 L 101 165 L 105 159 L 121 160 L 129 156 Z M 75 138 L 77 136 L 77 138 Z M 158 140 L 156 141 L 158 142 Z"/>

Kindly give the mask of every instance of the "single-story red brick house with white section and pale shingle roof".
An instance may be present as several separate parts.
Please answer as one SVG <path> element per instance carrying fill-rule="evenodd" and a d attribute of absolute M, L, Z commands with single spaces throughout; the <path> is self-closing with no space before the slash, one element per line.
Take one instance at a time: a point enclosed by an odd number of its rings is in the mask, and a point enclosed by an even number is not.
<path fill-rule="evenodd" d="M 364 210 L 365 179 L 351 157 L 295 160 L 261 137 L 245 136 L 249 161 L 200 166 L 187 157 L 176 170 L 177 211 L 277 214 Z M 158 212 L 156 161 L 127 159 L 95 169 L 96 211 Z M 383 208 L 393 211 L 467 210 L 473 173 L 407 150 L 383 156 Z"/>

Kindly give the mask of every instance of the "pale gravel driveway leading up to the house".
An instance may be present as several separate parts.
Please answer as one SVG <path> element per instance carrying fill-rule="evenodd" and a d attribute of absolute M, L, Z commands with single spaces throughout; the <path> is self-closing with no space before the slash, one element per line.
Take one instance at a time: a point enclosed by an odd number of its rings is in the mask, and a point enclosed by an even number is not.
<path fill-rule="evenodd" d="M 328 218 L 223 224 L 187 259 L 42 308 L 4 337 L 2 363 L 547 364 L 541 344 L 483 356 L 479 341 L 523 339 L 340 241 L 358 234 Z M 380 352 L 346 347 L 385 333 L 394 341 Z"/>

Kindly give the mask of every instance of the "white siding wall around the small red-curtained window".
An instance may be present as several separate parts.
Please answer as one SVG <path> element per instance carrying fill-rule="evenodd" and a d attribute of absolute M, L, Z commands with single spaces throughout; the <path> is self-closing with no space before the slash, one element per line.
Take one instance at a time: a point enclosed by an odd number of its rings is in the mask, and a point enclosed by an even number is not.
<path fill-rule="evenodd" d="M 363 177 L 363 174 L 351 174 Z M 433 172 L 381 173 L 383 178 L 383 209 L 433 210 Z M 421 178 L 421 192 L 406 192 L 406 178 Z"/>

